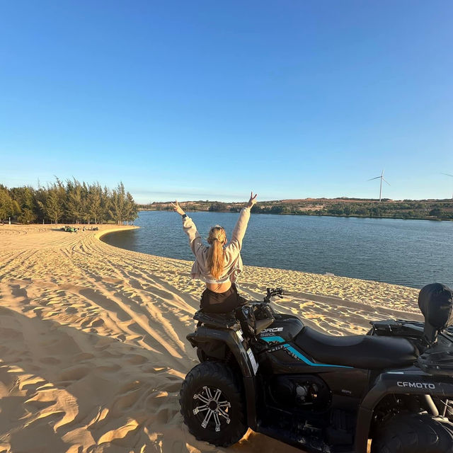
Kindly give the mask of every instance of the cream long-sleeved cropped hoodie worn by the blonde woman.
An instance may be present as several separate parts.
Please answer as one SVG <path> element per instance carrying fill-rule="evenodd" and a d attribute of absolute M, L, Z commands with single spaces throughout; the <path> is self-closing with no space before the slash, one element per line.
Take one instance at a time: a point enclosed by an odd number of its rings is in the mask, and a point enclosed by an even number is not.
<path fill-rule="evenodd" d="M 207 251 L 209 246 L 203 245 L 200 233 L 190 217 L 183 219 L 183 230 L 189 236 L 189 245 L 195 255 L 195 263 L 193 263 L 190 277 L 198 278 L 204 281 L 224 282 L 231 280 L 236 281 L 237 276 L 242 272 L 243 264 L 241 258 L 241 247 L 243 236 L 246 234 L 248 219 L 250 219 L 250 208 L 243 207 L 239 214 L 239 219 L 234 226 L 233 234 L 231 234 L 230 243 L 224 248 L 224 271 L 218 280 L 212 277 L 207 270 Z"/>

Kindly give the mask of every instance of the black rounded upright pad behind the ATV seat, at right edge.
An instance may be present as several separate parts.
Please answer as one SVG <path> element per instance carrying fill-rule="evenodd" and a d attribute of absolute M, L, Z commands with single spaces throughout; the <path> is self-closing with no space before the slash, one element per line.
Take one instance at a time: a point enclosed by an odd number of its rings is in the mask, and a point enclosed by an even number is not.
<path fill-rule="evenodd" d="M 425 339 L 432 345 L 437 333 L 453 321 L 453 292 L 442 283 L 431 283 L 420 289 L 418 306 L 425 316 Z"/>

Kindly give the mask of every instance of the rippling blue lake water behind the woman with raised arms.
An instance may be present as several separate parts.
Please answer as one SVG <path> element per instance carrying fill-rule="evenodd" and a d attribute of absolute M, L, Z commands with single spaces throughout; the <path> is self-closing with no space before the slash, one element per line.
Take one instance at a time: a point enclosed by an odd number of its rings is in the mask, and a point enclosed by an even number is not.
<path fill-rule="evenodd" d="M 190 212 L 202 238 L 236 212 Z M 179 214 L 140 212 L 141 228 L 103 236 L 132 251 L 193 260 Z M 252 214 L 241 251 L 245 265 L 333 273 L 411 287 L 453 287 L 453 222 Z"/>

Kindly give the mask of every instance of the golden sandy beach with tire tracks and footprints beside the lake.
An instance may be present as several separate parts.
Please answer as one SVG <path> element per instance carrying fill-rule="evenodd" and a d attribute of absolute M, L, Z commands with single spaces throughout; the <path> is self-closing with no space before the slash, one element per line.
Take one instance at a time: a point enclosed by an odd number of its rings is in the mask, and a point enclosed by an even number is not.
<path fill-rule="evenodd" d="M 191 263 L 115 248 L 106 231 L 0 226 L 0 453 L 223 452 L 188 433 L 178 392 L 197 363 Z M 188 283 L 190 284 L 188 285 Z M 246 267 L 240 292 L 333 335 L 421 319 L 418 290 Z M 229 452 L 299 452 L 251 431 Z"/>

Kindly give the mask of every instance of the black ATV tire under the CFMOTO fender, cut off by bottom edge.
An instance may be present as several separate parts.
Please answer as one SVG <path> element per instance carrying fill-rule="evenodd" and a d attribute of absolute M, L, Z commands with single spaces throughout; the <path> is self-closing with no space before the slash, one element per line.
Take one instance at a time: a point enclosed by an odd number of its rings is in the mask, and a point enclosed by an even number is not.
<path fill-rule="evenodd" d="M 453 423 L 424 414 L 398 414 L 377 429 L 372 453 L 453 453 Z"/>

